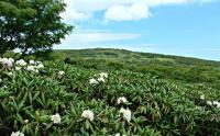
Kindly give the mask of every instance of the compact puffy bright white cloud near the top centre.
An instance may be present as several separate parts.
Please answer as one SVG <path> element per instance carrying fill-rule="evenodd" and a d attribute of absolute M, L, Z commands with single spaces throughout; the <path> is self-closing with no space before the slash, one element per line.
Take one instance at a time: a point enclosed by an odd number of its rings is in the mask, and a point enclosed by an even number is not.
<path fill-rule="evenodd" d="M 139 21 L 150 16 L 148 7 L 142 3 L 132 5 L 114 5 L 106 11 L 105 20 L 107 21 Z"/>

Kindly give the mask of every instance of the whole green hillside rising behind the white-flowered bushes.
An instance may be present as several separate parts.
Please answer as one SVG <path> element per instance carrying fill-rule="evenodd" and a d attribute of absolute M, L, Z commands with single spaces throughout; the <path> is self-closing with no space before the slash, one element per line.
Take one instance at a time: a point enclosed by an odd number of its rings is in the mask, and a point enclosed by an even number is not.
<path fill-rule="evenodd" d="M 135 53 L 124 49 L 56 50 L 56 58 L 94 69 L 128 69 L 147 72 L 176 83 L 220 89 L 220 63 L 189 57 Z"/>

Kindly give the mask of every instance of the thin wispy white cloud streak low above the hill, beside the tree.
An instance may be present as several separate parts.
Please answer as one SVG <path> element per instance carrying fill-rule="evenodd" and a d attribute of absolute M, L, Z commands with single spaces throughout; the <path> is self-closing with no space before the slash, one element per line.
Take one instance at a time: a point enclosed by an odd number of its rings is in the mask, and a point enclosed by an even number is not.
<path fill-rule="evenodd" d="M 74 33 L 66 37 L 62 42 L 62 46 L 55 48 L 85 48 L 85 47 L 96 47 L 96 45 L 110 44 L 111 42 L 123 42 L 139 39 L 141 34 L 138 33 L 113 33 L 108 30 L 92 30 L 92 31 L 80 31 L 79 33 Z"/>

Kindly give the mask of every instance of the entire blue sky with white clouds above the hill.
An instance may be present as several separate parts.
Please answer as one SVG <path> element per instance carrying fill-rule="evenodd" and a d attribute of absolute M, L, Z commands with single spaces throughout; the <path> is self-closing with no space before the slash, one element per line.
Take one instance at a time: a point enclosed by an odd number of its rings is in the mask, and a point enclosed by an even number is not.
<path fill-rule="evenodd" d="M 64 0 L 55 48 L 123 48 L 220 60 L 220 0 Z"/>

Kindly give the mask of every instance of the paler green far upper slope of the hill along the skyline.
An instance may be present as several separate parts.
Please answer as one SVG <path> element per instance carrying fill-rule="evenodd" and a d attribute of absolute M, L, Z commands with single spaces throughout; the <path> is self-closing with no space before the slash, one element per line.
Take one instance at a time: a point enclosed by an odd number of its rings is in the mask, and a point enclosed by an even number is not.
<path fill-rule="evenodd" d="M 113 48 L 92 48 L 92 49 L 62 49 L 56 50 L 65 53 L 70 58 L 85 58 L 85 59 L 108 59 L 108 60 L 122 60 L 132 63 L 164 63 L 165 65 L 212 65 L 220 66 L 220 61 L 205 60 L 193 57 L 179 57 L 172 55 L 152 54 L 152 53 L 139 53 L 130 52 L 125 49 Z"/>

